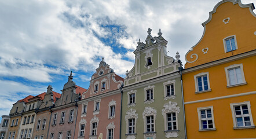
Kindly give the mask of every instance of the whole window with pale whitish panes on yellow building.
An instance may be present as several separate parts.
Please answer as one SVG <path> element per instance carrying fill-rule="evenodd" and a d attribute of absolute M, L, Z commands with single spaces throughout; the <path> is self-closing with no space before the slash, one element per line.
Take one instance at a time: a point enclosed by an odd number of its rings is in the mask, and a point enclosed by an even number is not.
<path fill-rule="evenodd" d="M 246 84 L 244 78 L 243 64 L 234 64 L 225 67 L 227 86 L 236 86 Z"/>

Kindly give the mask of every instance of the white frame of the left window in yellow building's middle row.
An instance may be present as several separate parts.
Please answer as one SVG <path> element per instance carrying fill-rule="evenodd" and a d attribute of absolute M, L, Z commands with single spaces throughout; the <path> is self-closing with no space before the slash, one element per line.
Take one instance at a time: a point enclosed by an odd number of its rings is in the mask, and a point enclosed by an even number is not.
<path fill-rule="evenodd" d="M 208 90 L 204 89 L 204 85 L 203 85 L 203 80 L 202 80 L 202 86 L 203 86 L 203 90 L 199 91 L 199 86 L 198 86 L 198 78 L 199 77 L 203 77 L 206 76 L 207 77 L 207 83 L 208 83 Z M 203 93 L 203 92 L 210 92 L 211 91 L 211 87 L 210 87 L 210 79 L 209 79 L 209 72 L 202 72 L 200 74 L 196 74 L 194 75 L 194 80 L 195 80 L 195 93 Z"/>

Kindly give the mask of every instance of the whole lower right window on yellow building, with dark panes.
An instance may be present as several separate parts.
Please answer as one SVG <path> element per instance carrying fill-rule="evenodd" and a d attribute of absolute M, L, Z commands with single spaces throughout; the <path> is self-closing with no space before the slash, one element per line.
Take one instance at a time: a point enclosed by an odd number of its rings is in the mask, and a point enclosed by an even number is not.
<path fill-rule="evenodd" d="M 254 127 L 250 101 L 232 103 L 231 111 L 234 129 L 239 129 L 241 127 Z"/>

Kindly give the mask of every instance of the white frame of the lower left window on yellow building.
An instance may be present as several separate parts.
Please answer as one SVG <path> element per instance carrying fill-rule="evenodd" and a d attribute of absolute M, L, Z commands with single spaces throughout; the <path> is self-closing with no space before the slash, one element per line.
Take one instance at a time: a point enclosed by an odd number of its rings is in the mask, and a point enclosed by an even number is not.
<path fill-rule="evenodd" d="M 201 111 L 211 109 L 211 118 L 201 118 Z M 207 113 L 206 113 L 207 115 Z M 207 129 L 203 129 L 202 120 L 212 120 L 213 121 L 213 128 L 208 128 L 208 121 L 207 121 Z M 198 123 L 199 123 L 199 131 L 204 130 L 216 130 L 215 122 L 214 122 L 214 114 L 213 114 L 213 106 L 209 107 L 200 107 L 198 108 Z"/>

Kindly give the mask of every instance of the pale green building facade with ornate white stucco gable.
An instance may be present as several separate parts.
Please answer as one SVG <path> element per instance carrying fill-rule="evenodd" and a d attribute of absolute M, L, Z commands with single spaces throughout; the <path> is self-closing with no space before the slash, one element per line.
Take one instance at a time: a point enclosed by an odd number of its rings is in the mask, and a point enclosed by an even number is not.
<path fill-rule="evenodd" d="M 185 138 L 180 55 L 167 56 L 167 41 L 152 37 L 138 42 L 135 64 L 122 88 L 121 138 Z"/>

